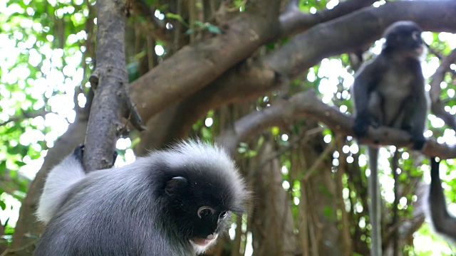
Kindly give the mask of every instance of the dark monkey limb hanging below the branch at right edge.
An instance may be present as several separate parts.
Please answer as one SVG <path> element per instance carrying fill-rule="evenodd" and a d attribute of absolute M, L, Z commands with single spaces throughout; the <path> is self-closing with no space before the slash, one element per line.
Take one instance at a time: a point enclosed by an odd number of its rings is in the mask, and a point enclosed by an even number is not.
<path fill-rule="evenodd" d="M 430 208 L 430 216 L 434 228 L 438 233 L 447 235 L 456 240 L 456 218 L 447 211 L 447 203 L 443 194 L 442 181 L 439 176 L 439 164 L 434 157 L 431 157 L 430 169 L 430 191 L 427 198 Z"/>

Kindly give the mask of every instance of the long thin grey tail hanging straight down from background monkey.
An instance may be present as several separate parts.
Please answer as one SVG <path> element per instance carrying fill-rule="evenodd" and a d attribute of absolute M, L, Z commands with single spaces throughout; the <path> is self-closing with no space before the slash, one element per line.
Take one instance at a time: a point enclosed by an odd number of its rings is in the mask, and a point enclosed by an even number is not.
<path fill-rule="evenodd" d="M 371 198 L 369 203 L 369 217 L 372 225 L 371 230 L 371 255 L 382 255 L 382 235 L 381 235 L 381 215 L 380 215 L 380 184 L 378 183 L 378 148 L 369 146 L 369 168 L 371 176 L 369 177 L 368 195 Z"/>

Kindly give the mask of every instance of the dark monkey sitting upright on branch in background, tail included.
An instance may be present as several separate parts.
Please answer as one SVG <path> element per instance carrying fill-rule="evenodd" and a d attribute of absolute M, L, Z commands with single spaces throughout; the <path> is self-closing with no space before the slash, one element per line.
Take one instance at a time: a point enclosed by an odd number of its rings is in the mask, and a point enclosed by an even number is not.
<path fill-rule="evenodd" d="M 368 127 L 387 126 L 410 133 L 413 149 L 425 144 L 427 92 L 421 70 L 423 41 L 420 27 L 412 21 L 398 21 L 384 33 L 383 50 L 363 65 L 352 87 L 355 123 L 353 132 L 364 137 Z M 369 146 L 371 255 L 382 255 L 378 147 Z"/>

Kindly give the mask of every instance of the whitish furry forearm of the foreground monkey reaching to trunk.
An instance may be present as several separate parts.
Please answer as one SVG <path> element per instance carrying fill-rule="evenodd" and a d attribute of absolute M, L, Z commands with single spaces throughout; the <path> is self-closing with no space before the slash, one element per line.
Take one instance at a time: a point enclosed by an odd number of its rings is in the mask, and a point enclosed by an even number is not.
<path fill-rule="evenodd" d="M 48 223 L 56 213 L 73 185 L 86 176 L 81 160 L 75 154 L 63 159 L 48 174 L 43 193 L 38 202 L 36 217 L 43 223 Z"/>

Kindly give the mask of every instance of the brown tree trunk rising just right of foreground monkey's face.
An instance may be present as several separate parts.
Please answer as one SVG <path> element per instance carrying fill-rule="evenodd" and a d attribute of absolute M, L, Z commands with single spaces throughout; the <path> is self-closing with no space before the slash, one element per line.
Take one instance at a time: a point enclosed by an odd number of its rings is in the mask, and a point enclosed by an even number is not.
<path fill-rule="evenodd" d="M 258 152 L 257 166 L 250 170 L 254 182 L 254 255 L 297 255 L 290 197 L 282 187 L 279 159 L 270 159 L 275 152 L 273 145 L 266 139 Z"/>

